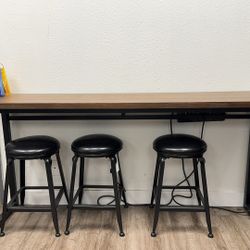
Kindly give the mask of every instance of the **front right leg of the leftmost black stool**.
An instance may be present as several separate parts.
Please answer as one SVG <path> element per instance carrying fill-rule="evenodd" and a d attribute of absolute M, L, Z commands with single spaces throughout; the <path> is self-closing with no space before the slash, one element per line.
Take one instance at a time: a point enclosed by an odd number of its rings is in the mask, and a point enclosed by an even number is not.
<path fill-rule="evenodd" d="M 57 218 L 57 210 L 56 210 L 56 202 L 55 202 L 55 193 L 54 193 L 54 184 L 53 184 L 53 177 L 52 177 L 52 160 L 50 158 L 45 159 L 45 167 L 46 167 L 46 174 L 47 174 L 47 181 L 48 181 L 48 188 L 49 188 L 49 197 L 50 197 L 50 204 L 51 204 L 51 213 L 54 222 L 54 227 L 56 230 L 56 237 L 60 236 L 59 225 L 58 225 L 58 218 Z"/>

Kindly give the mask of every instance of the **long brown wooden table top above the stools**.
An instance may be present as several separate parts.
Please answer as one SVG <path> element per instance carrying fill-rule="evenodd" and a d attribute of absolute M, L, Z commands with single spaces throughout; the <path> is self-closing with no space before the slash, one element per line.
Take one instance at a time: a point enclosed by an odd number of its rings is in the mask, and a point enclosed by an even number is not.
<path fill-rule="evenodd" d="M 250 108 L 250 91 L 117 94 L 12 94 L 0 97 L 6 109 L 179 109 Z"/>

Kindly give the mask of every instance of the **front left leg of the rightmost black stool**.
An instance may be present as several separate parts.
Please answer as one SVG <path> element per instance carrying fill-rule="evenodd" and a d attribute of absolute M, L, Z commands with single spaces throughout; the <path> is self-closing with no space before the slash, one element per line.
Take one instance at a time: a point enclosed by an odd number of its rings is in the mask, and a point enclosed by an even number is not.
<path fill-rule="evenodd" d="M 164 176 L 164 169 L 165 169 L 165 158 L 159 158 L 159 178 L 156 187 L 156 202 L 155 202 L 155 211 L 154 211 L 154 222 L 153 222 L 153 230 L 151 233 L 152 237 L 156 237 L 156 227 L 158 224 L 158 218 L 160 213 L 160 205 L 161 205 L 161 192 L 162 192 L 162 182 Z"/>

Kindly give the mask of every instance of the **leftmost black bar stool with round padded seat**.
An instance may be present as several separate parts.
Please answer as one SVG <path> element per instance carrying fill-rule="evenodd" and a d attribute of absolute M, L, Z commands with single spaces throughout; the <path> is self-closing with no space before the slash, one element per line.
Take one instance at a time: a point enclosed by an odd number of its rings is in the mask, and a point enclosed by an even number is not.
<path fill-rule="evenodd" d="M 56 231 L 56 237 L 60 236 L 58 218 L 57 218 L 57 206 L 63 196 L 65 195 L 67 201 L 67 188 L 64 179 L 62 163 L 59 155 L 60 143 L 50 136 L 28 136 L 11 141 L 6 145 L 7 156 L 7 169 L 4 188 L 4 200 L 3 200 L 3 215 L 1 223 L 0 236 L 4 236 L 4 226 L 8 213 L 13 212 L 51 212 Z M 62 181 L 62 186 L 54 186 L 52 176 L 52 160 L 51 156 L 56 155 L 58 169 Z M 25 186 L 25 161 L 41 159 L 45 163 L 46 175 L 48 186 Z M 13 167 L 14 160 L 20 161 L 20 189 L 13 196 L 13 198 L 7 202 L 8 199 L 8 186 L 10 182 L 10 168 Z M 48 189 L 50 196 L 50 206 L 25 206 L 25 191 L 30 189 Z M 55 197 L 54 190 L 59 189 L 57 197 Z M 18 197 L 20 195 L 20 205 Z"/>

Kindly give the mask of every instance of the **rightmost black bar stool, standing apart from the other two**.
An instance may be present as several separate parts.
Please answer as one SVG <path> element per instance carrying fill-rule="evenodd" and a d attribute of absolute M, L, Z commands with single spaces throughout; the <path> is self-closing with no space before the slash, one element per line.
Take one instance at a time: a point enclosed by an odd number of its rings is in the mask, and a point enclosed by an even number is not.
<path fill-rule="evenodd" d="M 151 197 L 151 207 L 154 207 L 155 200 L 155 209 L 154 209 L 154 222 L 153 230 L 151 233 L 152 237 L 156 236 L 156 227 L 158 223 L 158 217 L 160 210 L 165 211 L 194 211 L 194 212 L 205 212 L 206 221 L 208 227 L 208 237 L 212 238 L 212 228 L 210 220 L 210 211 L 209 211 L 209 201 L 208 201 L 208 192 L 207 192 L 207 180 L 206 180 L 206 171 L 205 171 L 205 159 L 203 154 L 207 150 L 207 144 L 202 139 L 186 134 L 170 134 L 163 135 L 158 137 L 154 143 L 153 148 L 157 152 L 157 161 L 155 168 L 154 184 Z M 161 192 L 162 189 L 173 189 L 176 186 L 163 186 L 163 176 L 165 169 L 165 161 L 167 158 L 179 158 L 184 164 L 184 159 L 193 159 L 194 166 L 194 186 L 178 186 L 178 189 L 192 189 L 196 191 L 196 196 L 198 200 L 197 206 L 169 206 L 161 205 Z M 200 163 L 203 195 L 200 190 L 199 184 L 199 169 L 198 163 Z M 184 166 L 184 165 L 183 165 Z"/>

